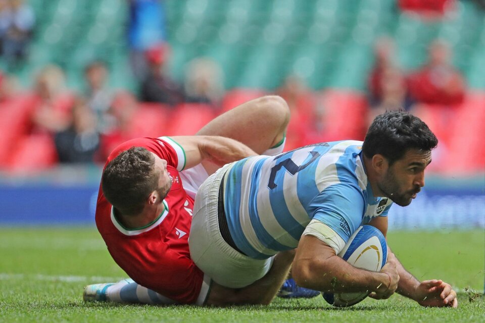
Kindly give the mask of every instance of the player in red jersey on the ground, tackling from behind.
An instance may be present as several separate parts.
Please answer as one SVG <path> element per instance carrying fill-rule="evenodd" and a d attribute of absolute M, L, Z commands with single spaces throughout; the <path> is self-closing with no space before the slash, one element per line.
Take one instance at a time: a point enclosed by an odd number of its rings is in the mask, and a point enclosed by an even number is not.
<path fill-rule="evenodd" d="M 286 102 L 265 96 L 217 117 L 196 136 L 137 138 L 118 146 L 103 171 L 96 226 L 113 259 L 139 285 L 131 280 L 126 286 L 89 285 L 84 299 L 108 295 L 126 302 L 269 303 L 288 274 L 294 251 L 275 257 L 271 275 L 234 290 L 199 270 L 188 239 L 202 182 L 224 164 L 281 152 L 288 121 Z"/>

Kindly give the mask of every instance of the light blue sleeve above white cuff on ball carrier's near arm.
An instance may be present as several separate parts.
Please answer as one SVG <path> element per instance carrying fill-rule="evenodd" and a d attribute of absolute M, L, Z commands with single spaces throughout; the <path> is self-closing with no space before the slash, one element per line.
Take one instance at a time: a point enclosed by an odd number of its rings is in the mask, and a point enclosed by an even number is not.
<path fill-rule="evenodd" d="M 360 189 L 348 184 L 334 184 L 312 201 L 313 219 L 328 226 L 347 242 L 362 223 L 364 203 Z"/>

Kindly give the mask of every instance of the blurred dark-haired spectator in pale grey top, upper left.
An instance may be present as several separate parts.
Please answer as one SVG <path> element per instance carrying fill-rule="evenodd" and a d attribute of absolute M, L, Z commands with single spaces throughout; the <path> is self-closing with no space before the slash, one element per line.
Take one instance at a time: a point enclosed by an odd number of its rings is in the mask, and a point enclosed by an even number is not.
<path fill-rule="evenodd" d="M 110 114 L 113 92 L 107 86 L 108 68 L 104 62 L 95 61 L 84 70 L 86 81 L 87 105 L 95 113 L 98 130 L 106 132 L 114 126 L 114 118 Z"/>

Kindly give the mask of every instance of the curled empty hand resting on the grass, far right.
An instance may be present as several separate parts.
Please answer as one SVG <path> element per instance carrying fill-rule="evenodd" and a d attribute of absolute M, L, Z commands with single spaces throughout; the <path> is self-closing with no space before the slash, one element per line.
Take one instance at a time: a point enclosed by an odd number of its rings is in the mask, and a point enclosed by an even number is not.
<path fill-rule="evenodd" d="M 456 292 L 450 284 L 432 279 L 421 282 L 414 290 L 413 299 L 426 307 L 458 307 Z"/>

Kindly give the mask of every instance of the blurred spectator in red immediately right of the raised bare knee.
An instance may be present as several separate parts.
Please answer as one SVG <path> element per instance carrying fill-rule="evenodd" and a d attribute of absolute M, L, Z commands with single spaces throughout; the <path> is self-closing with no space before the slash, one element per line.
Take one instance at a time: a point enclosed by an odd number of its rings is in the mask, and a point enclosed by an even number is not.
<path fill-rule="evenodd" d="M 276 94 L 286 100 L 291 114 L 285 150 L 321 141 L 318 135 L 322 130 L 320 111 L 317 109 L 314 93 L 304 80 L 298 76 L 289 75 L 276 90 Z"/>

